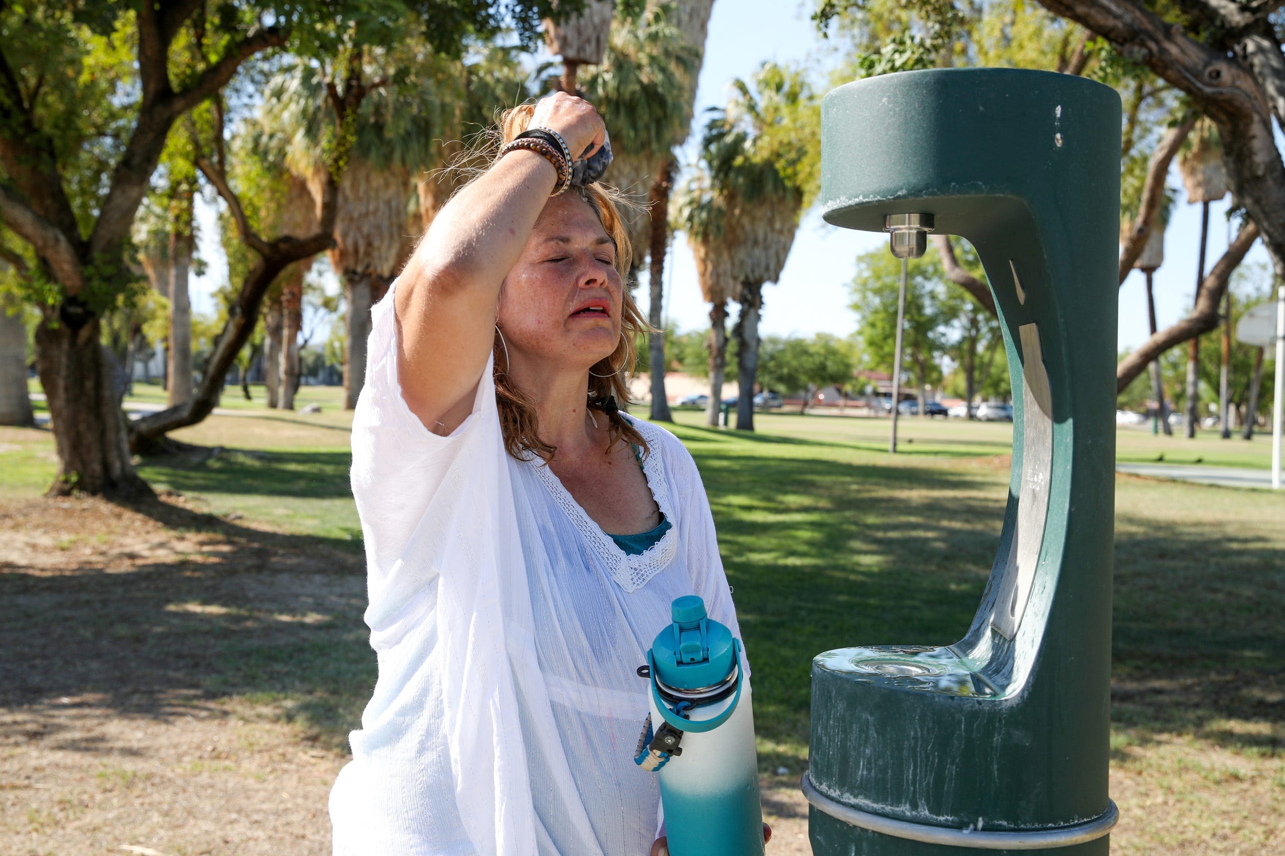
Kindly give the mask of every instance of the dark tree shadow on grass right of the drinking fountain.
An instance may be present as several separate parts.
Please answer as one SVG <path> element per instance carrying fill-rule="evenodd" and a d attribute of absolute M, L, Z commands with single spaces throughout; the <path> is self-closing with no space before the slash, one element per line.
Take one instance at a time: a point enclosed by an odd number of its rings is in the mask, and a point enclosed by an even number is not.
<path fill-rule="evenodd" d="M 1112 718 L 1135 740 L 1192 734 L 1285 751 L 1285 553 L 1199 523 L 1121 515 Z"/>

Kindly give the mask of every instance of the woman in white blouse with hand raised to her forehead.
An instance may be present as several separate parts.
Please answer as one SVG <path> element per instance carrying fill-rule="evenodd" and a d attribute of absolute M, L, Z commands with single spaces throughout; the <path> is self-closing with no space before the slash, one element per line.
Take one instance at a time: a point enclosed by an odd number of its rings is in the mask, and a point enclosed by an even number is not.
<path fill-rule="evenodd" d="M 528 126 L 373 312 L 352 487 L 379 681 L 337 853 L 663 852 L 636 668 L 680 595 L 739 636 L 691 456 L 616 407 L 646 326 L 619 215 L 555 194 L 603 121 L 559 93 L 504 141 Z"/>

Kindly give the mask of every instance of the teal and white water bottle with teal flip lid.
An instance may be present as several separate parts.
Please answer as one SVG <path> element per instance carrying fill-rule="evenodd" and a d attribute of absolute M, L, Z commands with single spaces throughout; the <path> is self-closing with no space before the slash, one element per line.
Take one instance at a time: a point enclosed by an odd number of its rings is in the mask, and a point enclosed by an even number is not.
<path fill-rule="evenodd" d="M 754 712 L 740 640 L 687 595 L 639 675 L 651 713 L 635 762 L 660 776 L 671 856 L 762 856 Z"/>

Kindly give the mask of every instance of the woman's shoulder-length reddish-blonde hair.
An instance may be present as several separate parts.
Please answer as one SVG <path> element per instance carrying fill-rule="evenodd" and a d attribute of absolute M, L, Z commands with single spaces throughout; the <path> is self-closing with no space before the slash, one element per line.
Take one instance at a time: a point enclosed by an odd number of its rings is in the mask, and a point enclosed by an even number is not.
<path fill-rule="evenodd" d="M 511 141 L 531 125 L 535 114 L 533 104 L 519 104 L 505 111 L 500 116 L 500 134 L 495 135 L 496 152 L 499 147 Z M 492 163 L 499 159 L 499 154 L 492 158 Z M 621 217 L 619 204 L 623 198 L 614 188 L 594 183 L 583 189 L 572 188 L 567 193 L 577 193 L 598 215 L 612 243 L 616 244 L 616 270 L 625 283 L 621 299 L 621 339 L 612 353 L 589 370 L 589 389 L 586 405 L 591 410 L 601 411 L 608 419 L 608 446 L 610 454 L 621 443 L 631 443 L 646 455 L 650 450 L 646 440 L 639 433 L 630 420 L 619 413 L 608 413 L 609 398 L 614 397 L 618 405 L 634 404 L 630 398 L 627 377 L 634 373 L 637 365 L 637 348 L 635 342 L 644 333 L 657 330 L 646 323 L 639 311 L 637 303 L 628 289 L 628 274 L 632 265 L 634 251 L 630 245 L 630 236 Z M 627 203 L 625 203 L 627 204 Z M 555 446 L 540 438 L 538 415 L 531 400 L 518 389 L 509 378 L 509 352 L 504 343 L 504 335 L 497 326 L 495 330 L 495 397 L 500 409 L 500 428 L 504 432 L 504 446 L 514 458 L 538 455 L 545 461 L 550 461 L 558 451 Z"/>

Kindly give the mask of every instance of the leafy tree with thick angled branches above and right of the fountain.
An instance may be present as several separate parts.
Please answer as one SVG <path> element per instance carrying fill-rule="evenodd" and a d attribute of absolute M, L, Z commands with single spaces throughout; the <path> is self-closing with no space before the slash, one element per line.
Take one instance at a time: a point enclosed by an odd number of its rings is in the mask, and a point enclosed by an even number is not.
<path fill-rule="evenodd" d="M 1201 4 L 1148 4 L 1144 9 L 1144 4 L 1126 0 L 1122 8 L 1130 17 L 1121 21 L 1122 13 L 1110 6 L 1112 1 L 1041 0 L 1041 8 L 1022 0 L 819 0 L 815 19 L 822 32 L 847 42 L 849 62 L 842 73 L 848 77 L 911 68 L 1005 66 L 1086 75 L 1114 86 L 1124 107 L 1121 283 L 1133 269 L 1156 212 L 1165 204 L 1169 167 L 1198 117 L 1214 120 L 1222 134 L 1234 123 L 1243 131 L 1237 144 L 1227 149 L 1237 150 L 1231 161 L 1239 159 L 1244 176 L 1270 176 L 1266 181 L 1246 179 L 1246 192 L 1255 199 L 1250 215 L 1272 220 L 1277 248 L 1271 252 L 1277 260 L 1285 258 L 1285 226 L 1277 227 L 1285 222 L 1285 163 L 1271 140 L 1267 117 L 1268 112 L 1275 112 L 1277 121 L 1285 116 L 1285 27 L 1267 21 L 1275 4 L 1244 10 L 1236 4 L 1217 10 Z M 1154 41 L 1154 33 L 1165 35 Z M 1227 60 L 1230 66 L 1223 69 L 1221 63 L 1227 57 L 1243 59 Z M 1214 66 L 1217 86 L 1195 82 Z M 1234 84 L 1225 72 L 1235 78 Z M 1277 94 L 1268 99 L 1271 111 L 1246 107 L 1261 98 L 1255 94 L 1259 91 Z M 1249 139 L 1258 143 L 1252 145 Z M 1253 245 L 1258 226 L 1258 220 L 1248 224 L 1243 240 L 1234 242 L 1209 269 L 1189 317 L 1123 356 L 1117 366 L 1119 389 L 1165 350 L 1217 325 L 1218 302 L 1231 272 Z M 944 251 L 942 240 L 944 236 L 937 236 L 934 243 Z M 946 261 L 951 279 L 969 288 L 970 280 L 956 278 Z M 1277 271 L 1285 272 L 1285 262 L 1276 263 Z M 1203 298 L 1205 292 L 1208 299 Z M 980 293 L 974 294 L 986 303 Z"/>

